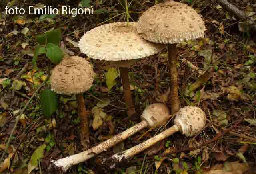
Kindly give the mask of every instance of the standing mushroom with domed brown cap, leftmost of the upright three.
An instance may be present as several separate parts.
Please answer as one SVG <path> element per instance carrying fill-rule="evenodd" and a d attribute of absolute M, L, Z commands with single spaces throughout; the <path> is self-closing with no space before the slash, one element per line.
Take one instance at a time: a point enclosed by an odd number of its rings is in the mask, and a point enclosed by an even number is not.
<path fill-rule="evenodd" d="M 51 88 L 58 94 L 76 94 L 78 116 L 80 118 L 81 144 L 88 149 L 89 123 L 83 93 L 92 86 L 94 72 L 92 65 L 82 57 L 72 56 L 64 59 L 54 67 L 51 76 Z"/>

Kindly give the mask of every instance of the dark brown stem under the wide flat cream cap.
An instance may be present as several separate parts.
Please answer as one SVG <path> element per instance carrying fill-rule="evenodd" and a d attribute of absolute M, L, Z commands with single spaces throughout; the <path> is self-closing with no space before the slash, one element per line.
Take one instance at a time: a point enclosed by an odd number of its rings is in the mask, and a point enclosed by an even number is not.
<path fill-rule="evenodd" d="M 132 93 L 130 90 L 129 76 L 128 76 L 128 68 L 120 67 L 120 75 L 122 79 L 123 89 L 124 89 L 124 102 L 126 104 L 127 115 L 131 117 L 135 114 L 134 103 L 132 101 Z"/>

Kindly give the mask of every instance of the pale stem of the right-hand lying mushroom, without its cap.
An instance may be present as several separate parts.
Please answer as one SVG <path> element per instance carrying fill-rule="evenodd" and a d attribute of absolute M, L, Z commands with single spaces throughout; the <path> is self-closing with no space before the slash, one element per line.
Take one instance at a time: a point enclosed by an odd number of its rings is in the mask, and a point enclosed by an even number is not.
<path fill-rule="evenodd" d="M 127 149 L 126 151 L 114 154 L 110 159 L 112 161 L 112 165 L 110 166 L 110 169 L 115 168 L 120 162 L 128 162 L 130 158 L 135 156 L 136 154 L 144 151 L 148 147 L 154 145 L 158 141 L 161 141 L 165 139 L 166 137 L 178 132 L 180 129 L 177 125 L 173 125 L 169 129 L 166 129 L 162 133 L 159 133 L 158 135 L 144 141 L 143 143 L 140 143 L 130 149 Z M 104 161 L 104 160 L 103 160 Z M 114 161 L 114 163 L 113 163 Z"/>

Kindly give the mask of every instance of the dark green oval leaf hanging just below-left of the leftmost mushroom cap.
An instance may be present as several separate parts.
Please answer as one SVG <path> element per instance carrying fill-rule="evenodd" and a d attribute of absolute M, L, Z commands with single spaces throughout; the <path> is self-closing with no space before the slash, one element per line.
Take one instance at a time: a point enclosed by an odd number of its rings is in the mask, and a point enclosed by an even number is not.
<path fill-rule="evenodd" d="M 58 97 L 57 94 L 52 92 L 50 89 L 45 89 L 40 94 L 41 108 L 46 119 L 49 119 L 54 111 L 58 108 Z"/>

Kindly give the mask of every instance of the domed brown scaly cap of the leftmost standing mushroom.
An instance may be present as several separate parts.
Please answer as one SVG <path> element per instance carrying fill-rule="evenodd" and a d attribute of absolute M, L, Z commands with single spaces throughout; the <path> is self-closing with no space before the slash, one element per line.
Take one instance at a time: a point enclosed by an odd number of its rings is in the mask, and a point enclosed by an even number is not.
<path fill-rule="evenodd" d="M 52 70 L 51 88 L 58 94 L 79 94 L 92 86 L 92 65 L 78 56 L 64 57 Z"/>

